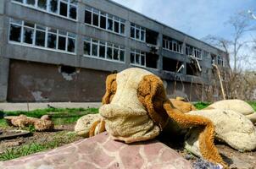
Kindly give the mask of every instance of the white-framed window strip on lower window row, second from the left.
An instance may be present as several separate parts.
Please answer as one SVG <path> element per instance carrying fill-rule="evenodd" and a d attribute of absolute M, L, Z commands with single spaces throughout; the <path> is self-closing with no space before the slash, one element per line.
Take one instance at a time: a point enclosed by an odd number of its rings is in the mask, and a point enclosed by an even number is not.
<path fill-rule="evenodd" d="M 92 52 L 91 52 L 92 49 Z M 125 62 L 125 47 L 85 37 L 84 56 Z"/>

